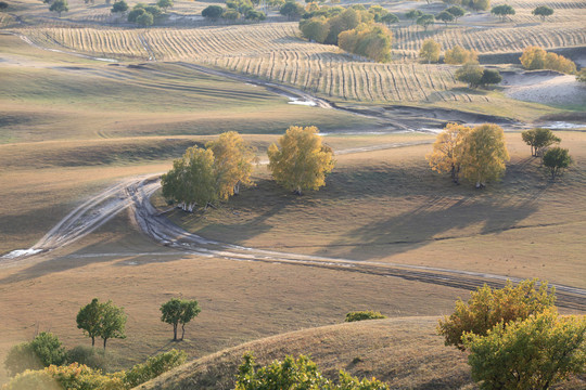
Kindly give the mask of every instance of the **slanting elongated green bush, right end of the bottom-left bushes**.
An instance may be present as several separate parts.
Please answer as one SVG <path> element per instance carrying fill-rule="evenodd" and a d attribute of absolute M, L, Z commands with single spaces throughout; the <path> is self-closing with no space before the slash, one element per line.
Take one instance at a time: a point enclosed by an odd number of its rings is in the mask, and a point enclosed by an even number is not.
<path fill-rule="evenodd" d="M 133 389 L 161 374 L 186 363 L 187 353 L 171 349 L 168 352 L 151 356 L 144 363 L 136 364 L 124 374 L 124 384 L 127 389 Z"/>

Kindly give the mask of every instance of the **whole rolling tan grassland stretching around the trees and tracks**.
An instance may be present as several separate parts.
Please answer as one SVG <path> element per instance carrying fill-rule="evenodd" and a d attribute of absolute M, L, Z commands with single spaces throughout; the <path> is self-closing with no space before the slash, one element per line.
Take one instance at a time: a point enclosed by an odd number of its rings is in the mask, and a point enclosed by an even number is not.
<path fill-rule="evenodd" d="M 467 354 L 435 334 L 459 297 L 536 277 L 560 287 L 562 314 L 585 313 L 586 88 L 519 64 L 535 44 L 583 66 L 585 1 L 552 0 L 542 22 L 531 14 L 540 1 L 509 0 L 517 13 L 505 22 L 474 12 L 428 31 L 405 13 L 443 2 L 372 1 L 399 16 L 387 63 L 308 41 L 278 9 L 262 23 L 211 22 L 201 12 L 216 2 L 177 1 L 138 28 L 103 1 L 71 0 L 61 16 L 38 0 L 7 1 L 0 386 L 11 347 L 39 332 L 89 346 L 76 314 L 94 297 L 128 314 L 127 338 L 109 341 L 111 370 L 188 353 L 153 390 L 231 389 L 249 350 L 263 364 L 311 354 L 329 377 L 343 368 L 393 388 L 470 390 Z M 421 62 L 428 38 L 477 51 L 504 82 L 471 89 L 458 65 Z M 502 126 L 511 159 L 501 181 L 475 190 L 430 169 L 425 155 L 454 121 Z M 320 191 L 294 195 L 267 169 L 269 145 L 290 126 L 317 126 L 334 152 Z M 573 158 L 555 181 L 521 139 L 536 126 L 551 127 Z M 205 210 L 170 208 L 157 178 L 227 131 L 255 148 L 254 185 Z M 139 218 L 151 205 L 146 219 L 171 226 L 176 245 Z M 38 253 L 14 252 L 29 248 Z M 202 308 L 181 342 L 161 321 L 173 297 Z M 356 310 L 388 318 L 342 324 Z"/>

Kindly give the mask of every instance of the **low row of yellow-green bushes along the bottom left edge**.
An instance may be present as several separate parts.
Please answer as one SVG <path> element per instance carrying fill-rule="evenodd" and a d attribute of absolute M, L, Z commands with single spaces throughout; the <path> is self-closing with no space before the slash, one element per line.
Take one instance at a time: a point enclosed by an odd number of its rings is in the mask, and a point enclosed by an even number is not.
<path fill-rule="evenodd" d="M 151 356 L 146 362 L 137 364 L 126 372 L 112 374 L 105 374 L 102 369 L 78 362 L 68 365 L 51 364 L 43 369 L 26 369 L 16 374 L 2 389 L 129 390 L 180 366 L 186 360 L 186 352 L 173 349 Z"/>

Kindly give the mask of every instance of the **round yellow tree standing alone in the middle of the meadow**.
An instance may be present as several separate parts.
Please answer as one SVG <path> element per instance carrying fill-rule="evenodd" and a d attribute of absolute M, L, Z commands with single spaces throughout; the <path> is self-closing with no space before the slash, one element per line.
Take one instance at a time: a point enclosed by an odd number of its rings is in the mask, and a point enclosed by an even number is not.
<path fill-rule="evenodd" d="M 272 178 L 286 190 L 301 195 L 304 190 L 326 185 L 326 174 L 334 167 L 333 151 L 321 143 L 318 128 L 292 126 L 268 148 Z"/>

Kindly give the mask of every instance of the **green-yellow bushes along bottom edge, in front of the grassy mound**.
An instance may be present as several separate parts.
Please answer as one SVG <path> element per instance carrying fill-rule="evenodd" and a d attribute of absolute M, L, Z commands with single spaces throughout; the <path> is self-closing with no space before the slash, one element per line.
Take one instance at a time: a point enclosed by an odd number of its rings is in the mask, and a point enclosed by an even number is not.
<path fill-rule="evenodd" d="M 316 363 L 309 358 L 297 359 L 286 355 L 269 365 L 257 367 L 254 356 L 246 353 L 244 362 L 238 367 L 234 390 L 282 390 L 282 389 L 320 389 L 320 390 L 388 390 L 388 386 L 372 379 L 358 379 L 340 370 L 337 384 L 326 378 Z"/>

